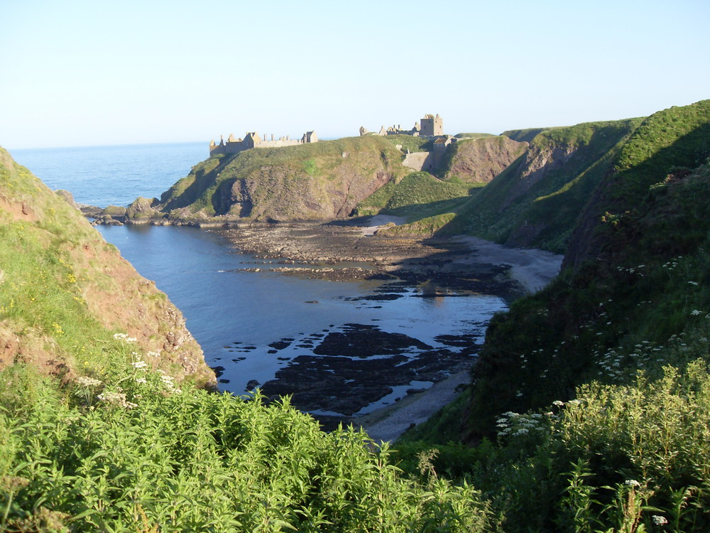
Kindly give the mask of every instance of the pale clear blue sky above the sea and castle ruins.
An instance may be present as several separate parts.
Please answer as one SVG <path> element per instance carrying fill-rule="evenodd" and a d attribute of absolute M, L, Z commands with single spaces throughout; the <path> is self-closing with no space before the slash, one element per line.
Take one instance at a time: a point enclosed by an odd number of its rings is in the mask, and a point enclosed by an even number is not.
<path fill-rule="evenodd" d="M 710 98 L 710 1 L 0 0 L 0 145 L 447 133 Z"/>

